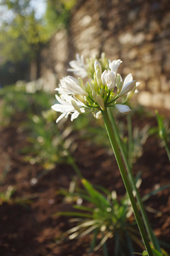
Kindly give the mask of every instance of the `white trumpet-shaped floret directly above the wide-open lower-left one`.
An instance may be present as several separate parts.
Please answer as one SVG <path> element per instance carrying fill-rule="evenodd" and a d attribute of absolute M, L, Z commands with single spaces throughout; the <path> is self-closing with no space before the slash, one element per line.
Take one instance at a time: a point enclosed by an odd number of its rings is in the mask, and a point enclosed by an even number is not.
<path fill-rule="evenodd" d="M 60 87 L 56 88 L 60 94 L 67 93 L 67 94 L 77 94 L 82 96 L 89 96 L 87 92 L 85 92 L 80 86 L 77 79 L 73 78 L 72 76 L 67 76 L 60 80 Z"/>

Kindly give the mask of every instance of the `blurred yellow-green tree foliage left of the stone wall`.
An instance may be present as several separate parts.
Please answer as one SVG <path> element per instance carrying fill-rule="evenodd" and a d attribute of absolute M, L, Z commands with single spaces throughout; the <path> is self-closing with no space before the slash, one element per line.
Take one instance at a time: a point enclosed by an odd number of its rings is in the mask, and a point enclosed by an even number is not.
<path fill-rule="evenodd" d="M 13 75 L 9 80 L 3 76 L 1 83 L 9 85 L 18 79 L 28 79 L 28 65 L 32 60 L 38 63 L 39 53 L 52 35 L 67 26 L 69 11 L 77 0 L 45 0 L 47 8 L 42 17 L 36 16 L 36 9 L 30 0 L 0 1 L 0 66 L 11 76 L 11 65 L 20 78 Z M 4 15 L 6 14 L 6 15 Z M 7 66 L 7 67 L 6 67 Z M 8 70 L 10 69 L 10 70 Z"/>

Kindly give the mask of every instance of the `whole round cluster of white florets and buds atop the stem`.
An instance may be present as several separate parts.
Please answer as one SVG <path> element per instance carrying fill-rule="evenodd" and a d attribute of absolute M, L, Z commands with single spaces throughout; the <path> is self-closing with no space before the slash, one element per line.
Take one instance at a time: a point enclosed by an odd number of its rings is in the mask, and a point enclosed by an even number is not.
<path fill-rule="evenodd" d="M 106 62 L 106 58 L 103 58 Z M 60 97 L 56 95 L 59 103 L 52 106 L 52 109 L 57 112 L 62 112 L 57 122 L 62 117 L 72 115 L 71 120 L 77 118 L 79 114 L 93 112 L 96 118 L 106 107 L 116 107 L 121 113 L 128 114 L 130 107 L 125 105 L 130 100 L 132 95 L 137 92 L 136 87 L 140 82 L 136 82 L 132 78 L 132 74 L 126 76 L 124 82 L 118 67 L 122 60 L 108 60 L 108 68 L 103 67 L 98 60 L 94 62 L 94 79 L 91 82 L 84 82 L 81 78 L 75 79 L 72 76 L 67 76 L 60 80 L 60 87 L 56 88 L 60 93 Z M 72 71 L 76 75 L 81 75 L 82 78 L 87 76 L 88 66 L 84 65 L 84 58 L 77 54 L 77 60 L 72 60 L 69 63 Z M 118 98 L 127 95 L 123 104 L 117 104 Z M 86 110 L 88 110 L 86 112 Z M 99 111 L 98 111 L 99 110 Z"/>

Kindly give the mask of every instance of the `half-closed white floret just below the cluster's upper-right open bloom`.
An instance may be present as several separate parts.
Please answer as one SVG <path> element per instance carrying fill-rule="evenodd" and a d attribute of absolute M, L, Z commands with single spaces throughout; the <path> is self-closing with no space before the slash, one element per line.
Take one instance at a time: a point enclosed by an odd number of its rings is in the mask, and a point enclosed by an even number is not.
<path fill-rule="evenodd" d="M 108 90 L 113 90 L 115 87 L 115 73 L 111 70 L 104 70 L 101 74 L 103 85 L 107 85 Z"/>

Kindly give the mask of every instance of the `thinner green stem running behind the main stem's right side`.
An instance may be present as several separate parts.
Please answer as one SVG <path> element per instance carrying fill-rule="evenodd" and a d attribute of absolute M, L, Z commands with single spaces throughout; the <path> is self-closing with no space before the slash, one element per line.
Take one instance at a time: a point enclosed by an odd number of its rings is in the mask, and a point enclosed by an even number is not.
<path fill-rule="evenodd" d="M 147 214 L 145 212 L 145 208 L 144 208 L 142 200 L 140 198 L 140 193 L 137 190 L 137 187 L 135 185 L 135 180 L 134 180 L 134 177 L 132 175 L 132 169 L 129 166 L 128 159 L 127 159 L 126 154 L 125 154 L 125 149 L 123 148 L 123 144 L 122 144 L 122 141 L 121 141 L 119 133 L 118 133 L 118 128 L 117 128 L 117 126 L 115 124 L 115 119 L 113 118 L 113 115 L 111 114 L 111 110 L 108 110 L 108 113 L 109 113 L 109 117 L 111 119 L 111 123 L 113 124 L 113 130 L 114 130 L 114 133 L 115 133 L 115 138 L 117 139 L 118 146 L 119 146 L 121 154 L 123 156 L 123 161 L 125 163 L 125 167 L 126 167 L 126 169 L 128 171 L 128 177 L 129 177 L 130 183 L 132 185 L 132 189 L 136 193 L 137 203 L 138 203 L 138 206 L 140 208 L 140 212 L 142 214 L 142 218 L 143 218 L 144 223 L 145 223 L 145 228 L 147 230 L 147 234 L 149 236 L 149 240 L 152 242 L 152 245 L 154 246 L 154 248 L 159 250 L 159 252 L 161 252 L 161 248 L 159 246 L 159 242 L 157 241 L 157 238 L 155 237 L 155 235 L 153 233 L 153 230 L 152 230 L 152 228 L 151 228 L 151 226 L 149 224 L 149 220 L 147 218 Z"/>

